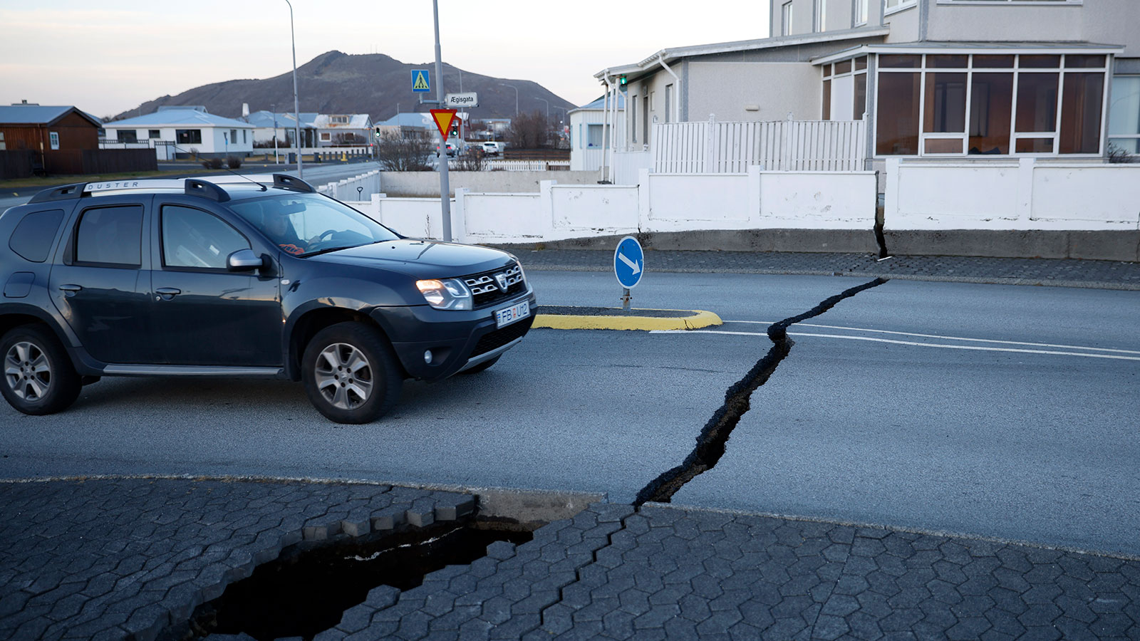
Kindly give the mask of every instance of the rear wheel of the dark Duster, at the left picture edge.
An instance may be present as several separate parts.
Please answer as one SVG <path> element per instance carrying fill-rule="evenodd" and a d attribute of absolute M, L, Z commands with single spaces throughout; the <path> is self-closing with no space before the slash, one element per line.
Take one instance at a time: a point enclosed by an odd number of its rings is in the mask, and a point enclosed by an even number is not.
<path fill-rule="evenodd" d="M 47 327 L 23 325 L 0 340 L 3 384 L 0 391 L 24 414 L 55 414 L 79 398 L 82 379 L 63 344 Z"/>

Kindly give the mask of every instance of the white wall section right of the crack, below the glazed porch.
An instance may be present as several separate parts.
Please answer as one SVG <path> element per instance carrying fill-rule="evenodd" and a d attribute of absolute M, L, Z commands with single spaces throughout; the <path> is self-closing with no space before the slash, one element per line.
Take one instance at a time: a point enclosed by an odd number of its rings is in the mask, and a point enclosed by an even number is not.
<path fill-rule="evenodd" d="M 887 160 L 885 229 L 1140 229 L 1140 165 Z"/>

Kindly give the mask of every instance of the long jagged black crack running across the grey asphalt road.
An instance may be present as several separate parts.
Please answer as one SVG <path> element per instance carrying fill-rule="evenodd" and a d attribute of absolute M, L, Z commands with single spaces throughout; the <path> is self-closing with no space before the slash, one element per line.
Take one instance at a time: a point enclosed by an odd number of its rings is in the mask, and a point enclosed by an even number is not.
<path fill-rule="evenodd" d="M 773 344 L 768 349 L 768 352 L 756 362 L 756 365 L 744 374 L 744 378 L 728 388 L 724 395 L 724 405 L 712 413 L 712 416 L 701 429 L 700 435 L 697 437 L 697 447 L 693 448 L 689 456 L 685 456 L 685 460 L 679 465 L 663 472 L 643 487 L 637 493 L 637 497 L 634 498 L 634 505 L 641 506 L 646 502 L 669 503 L 673 500 L 673 495 L 684 487 L 686 482 L 711 470 L 717 464 L 720 457 L 724 456 L 725 445 L 728 441 L 728 437 L 732 436 L 732 431 L 740 423 L 740 419 L 751 408 L 752 392 L 768 381 L 768 378 L 775 372 L 780 362 L 791 351 L 791 346 L 795 344 L 795 341 L 788 338 L 789 326 L 820 316 L 834 307 L 839 301 L 864 290 L 877 287 L 886 282 L 886 278 L 876 278 L 869 283 L 845 290 L 803 314 L 769 325 L 767 334 Z"/>

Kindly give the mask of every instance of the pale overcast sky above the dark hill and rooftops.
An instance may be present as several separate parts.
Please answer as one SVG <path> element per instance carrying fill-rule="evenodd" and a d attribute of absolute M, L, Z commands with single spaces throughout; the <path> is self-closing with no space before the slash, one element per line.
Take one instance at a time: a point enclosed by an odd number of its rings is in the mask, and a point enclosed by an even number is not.
<path fill-rule="evenodd" d="M 669 47 L 766 38 L 767 6 L 439 0 L 440 40 L 446 63 L 532 80 L 581 105 L 601 95 L 593 76 L 608 66 Z M 333 49 L 434 63 L 431 0 L 293 0 L 293 11 L 298 66 Z M 0 0 L 0 26 L 3 105 L 75 105 L 103 117 L 292 70 L 285 0 Z"/>

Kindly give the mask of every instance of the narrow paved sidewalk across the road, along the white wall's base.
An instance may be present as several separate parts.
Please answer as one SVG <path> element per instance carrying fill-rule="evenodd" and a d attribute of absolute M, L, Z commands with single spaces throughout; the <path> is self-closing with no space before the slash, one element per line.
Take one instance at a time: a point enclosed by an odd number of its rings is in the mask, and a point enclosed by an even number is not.
<path fill-rule="evenodd" d="M 514 248 L 527 269 L 612 271 L 613 252 Z M 650 271 L 807 274 L 950 281 L 1008 285 L 1056 285 L 1140 290 L 1140 262 L 1042 258 L 977 258 L 796 252 L 645 252 Z"/>

